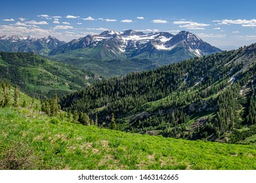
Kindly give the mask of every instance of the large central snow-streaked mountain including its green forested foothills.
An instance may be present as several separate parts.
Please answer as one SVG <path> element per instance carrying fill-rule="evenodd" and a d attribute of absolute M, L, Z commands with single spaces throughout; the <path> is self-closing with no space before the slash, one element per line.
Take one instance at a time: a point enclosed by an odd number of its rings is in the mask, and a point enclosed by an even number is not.
<path fill-rule="evenodd" d="M 52 50 L 49 56 L 110 77 L 216 52 L 221 50 L 187 31 L 172 35 L 112 30 L 68 42 Z"/>

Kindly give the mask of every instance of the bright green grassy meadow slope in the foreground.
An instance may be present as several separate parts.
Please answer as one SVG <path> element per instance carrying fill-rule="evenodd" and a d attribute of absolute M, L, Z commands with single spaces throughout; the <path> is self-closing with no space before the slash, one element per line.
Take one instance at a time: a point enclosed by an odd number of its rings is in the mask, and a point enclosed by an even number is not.
<path fill-rule="evenodd" d="M 253 145 L 124 133 L 28 108 L 0 108 L 0 119 L 1 169 L 256 169 Z"/>

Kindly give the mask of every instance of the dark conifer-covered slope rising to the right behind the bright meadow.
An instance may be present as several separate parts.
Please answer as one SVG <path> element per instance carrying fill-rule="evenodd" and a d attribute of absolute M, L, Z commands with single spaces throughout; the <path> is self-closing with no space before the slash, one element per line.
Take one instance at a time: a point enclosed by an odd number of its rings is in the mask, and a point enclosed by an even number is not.
<path fill-rule="evenodd" d="M 251 44 L 110 78 L 67 95 L 60 105 L 93 120 L 97 116 L 103 127 L 113 127 L 114 115 L 122 131 L 255 142 L 255 52 Z"/>

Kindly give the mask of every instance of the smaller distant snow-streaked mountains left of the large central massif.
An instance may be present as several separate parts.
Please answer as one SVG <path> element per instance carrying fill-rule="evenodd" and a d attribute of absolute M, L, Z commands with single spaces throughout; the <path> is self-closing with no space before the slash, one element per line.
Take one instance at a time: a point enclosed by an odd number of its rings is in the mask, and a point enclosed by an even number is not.
<path fill-rule="evenodd" d="M 30 35 L 27 37 L 20 35 L 2 36 L 0 37 L 0 50 L 3 52 L 34 52 L 40 55 L 48 55 L 51 50 L 65 43 L 51 36 L 41 39 L 35 39 Z"/>

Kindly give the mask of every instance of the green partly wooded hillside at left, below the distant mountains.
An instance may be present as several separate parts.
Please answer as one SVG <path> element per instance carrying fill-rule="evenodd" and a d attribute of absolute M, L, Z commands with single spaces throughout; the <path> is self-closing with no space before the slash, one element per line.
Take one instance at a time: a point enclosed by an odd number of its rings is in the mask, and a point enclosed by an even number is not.
<path fill-rule="evenodd" d="M 33 53 L 0 52 L 0 78 L 34 97 L 52 97 L 89 86 L 95 74 Z"/>

